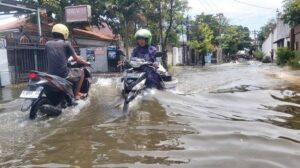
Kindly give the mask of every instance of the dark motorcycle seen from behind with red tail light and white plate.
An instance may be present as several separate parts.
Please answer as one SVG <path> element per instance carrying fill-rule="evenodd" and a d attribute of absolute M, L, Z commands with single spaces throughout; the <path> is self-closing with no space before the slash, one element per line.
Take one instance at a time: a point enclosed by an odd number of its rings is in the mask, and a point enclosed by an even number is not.
<path fill-rule="evenodd" d="M 69 68 L 81 68 L 84 71 L 84 81 L 80 92 L 88 96 L 91 86 L 91 71 L 88 66 L 68 62 Z M 29 118 L 35 119 L 38 115 L 55 117 L 62 113 L 64 108 L 76 105 L 74 101 L 75 83 L 59 76 L 44 72 L 30 71 L 29 83 L 20 95 L 24 99 L 21 111 L 29 111 Z"/>

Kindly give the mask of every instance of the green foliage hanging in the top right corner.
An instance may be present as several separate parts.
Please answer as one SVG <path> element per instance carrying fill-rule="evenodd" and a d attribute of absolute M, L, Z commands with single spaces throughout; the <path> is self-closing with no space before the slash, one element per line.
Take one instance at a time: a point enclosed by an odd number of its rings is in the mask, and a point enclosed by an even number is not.
<path fill-rule="evenodd" d="M 300 0 L 285 0 L 282 17 L 291 26 L 300 24 Z"/>

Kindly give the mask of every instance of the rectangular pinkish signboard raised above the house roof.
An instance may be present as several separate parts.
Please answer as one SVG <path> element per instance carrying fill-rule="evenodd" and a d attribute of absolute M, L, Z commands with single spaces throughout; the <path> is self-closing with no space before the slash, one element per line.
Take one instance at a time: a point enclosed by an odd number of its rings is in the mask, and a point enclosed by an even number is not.
<path fill-rule="evenodd" d="M 91 18 L 91 6 L 79 5 L 65 8 L 66 22 L 88 22 Z"/>

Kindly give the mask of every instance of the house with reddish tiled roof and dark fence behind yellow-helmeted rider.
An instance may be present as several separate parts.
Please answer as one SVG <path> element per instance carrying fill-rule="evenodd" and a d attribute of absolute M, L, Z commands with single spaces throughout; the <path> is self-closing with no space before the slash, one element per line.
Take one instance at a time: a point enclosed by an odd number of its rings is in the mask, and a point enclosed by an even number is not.
<path fill-rule="evenodd" d="M 27 80 L 30 70 L 46 71 L 47 59 L 44 55 L 44 45 L 51 39 L 52 26 L 42 24 L 42 36 L 39 36 L 38 26 L 19 19 L 0 27 L 1 44 L 1 80 L 18 83 Z M 101 29 L 90 26 L 85 29 L 73 29 L 69 41 L 82 56 L 93 54 L 91 61 L 93 71 L 108 72 L 107 47 L 116 42 L 115 35 L 107 25 Z M 6 59 L 4 59 L 6 58 Z M 7 75 L 9 74 L 9 75 Z"/>

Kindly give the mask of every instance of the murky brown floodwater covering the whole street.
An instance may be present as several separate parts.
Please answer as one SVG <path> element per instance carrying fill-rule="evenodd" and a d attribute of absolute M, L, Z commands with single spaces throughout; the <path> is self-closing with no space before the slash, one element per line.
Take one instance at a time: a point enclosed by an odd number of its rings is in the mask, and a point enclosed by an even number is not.
<path fill-rule="evenodd" d="M 116 78 L 96 79 L 87 101 L 53 119 L 30 121 L 22 100 L 2 101 L 0 167 L 299 167 L 300 87 L 277 75 L 286 70 L 174 71 L 175 89 L 145 93 L 128 114 Z"/>

